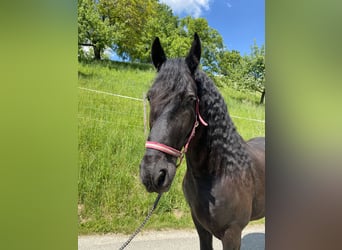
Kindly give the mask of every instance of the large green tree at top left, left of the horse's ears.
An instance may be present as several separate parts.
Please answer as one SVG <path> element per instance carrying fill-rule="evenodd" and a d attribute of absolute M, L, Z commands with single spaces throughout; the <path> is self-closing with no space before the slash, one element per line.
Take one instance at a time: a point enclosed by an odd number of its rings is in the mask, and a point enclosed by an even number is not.
<path fill-rule="evenodd" d="M 92 46 L 95 59 L 101 59 L 106 47 L 122 58 L 139 58 L 145 24 L 156 4 L 156 0 L 79 0 L 79 45 Z"/>

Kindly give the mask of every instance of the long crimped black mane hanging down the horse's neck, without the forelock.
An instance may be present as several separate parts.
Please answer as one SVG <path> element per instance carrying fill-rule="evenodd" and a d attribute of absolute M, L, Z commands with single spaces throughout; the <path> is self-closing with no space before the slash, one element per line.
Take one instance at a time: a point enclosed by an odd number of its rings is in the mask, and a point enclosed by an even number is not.
<path fill-rule="evenodd" d="M 209 126 L 207 146 L 209 148 L 209 172 L 233 173 L 251 166 L 245 141 L 231 120 L 227 105 L 213 81 L 201 70 L 195 73 L 201 115 Z"/>

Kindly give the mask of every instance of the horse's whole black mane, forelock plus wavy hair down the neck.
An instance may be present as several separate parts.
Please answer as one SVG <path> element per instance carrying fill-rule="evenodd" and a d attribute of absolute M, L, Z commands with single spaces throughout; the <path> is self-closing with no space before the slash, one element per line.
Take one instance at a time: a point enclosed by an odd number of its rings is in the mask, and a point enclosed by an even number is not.
<path fill-rule="evenodd" d="M 184 58 L 166 60 L 157 74 L 148 96 L 153 102 L 163 106 L 183 98 L 187 93 L 189 81 L 195 81 L 200 99 L 200 112 L 208 122 L 207 147 L 209 149 L 209 172 L 232 173 L 246 169 L 251 165 L 250 156 L 245 148 L 245 141 L 239 135 L 229 117 L 227 105 L 213 81 L 200 69 L 191 74 Z M 178 99 L 177 99 L 178 98 Z"/>

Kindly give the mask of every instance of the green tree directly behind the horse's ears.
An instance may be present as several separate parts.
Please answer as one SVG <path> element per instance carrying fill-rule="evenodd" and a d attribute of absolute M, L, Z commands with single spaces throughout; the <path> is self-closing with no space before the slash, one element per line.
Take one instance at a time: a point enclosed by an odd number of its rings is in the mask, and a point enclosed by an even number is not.
<path fill-rule="evenodd" d="M 202 43 L 202 65 L 208 73 L 218 71 L 218 56 L 223 50 L 221 35 L 212 29 L 206 19 L 187 16 L 179 19 L 169 6 L 157 4 L 154 15 L 148 19 L 144 36 L 141 38 L 141 61 L 150 62 L 151 42 L 159 37 L 169 58 L 183 57 L 187 54 L 193 35 L 197 32 Z"/>

